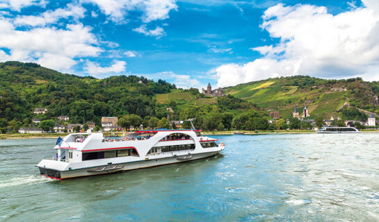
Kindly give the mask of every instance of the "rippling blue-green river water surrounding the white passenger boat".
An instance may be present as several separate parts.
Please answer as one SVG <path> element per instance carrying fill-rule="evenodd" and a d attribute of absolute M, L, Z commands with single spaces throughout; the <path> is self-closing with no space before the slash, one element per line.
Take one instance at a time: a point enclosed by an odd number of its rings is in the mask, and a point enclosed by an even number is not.
<path fill-rule="evenodd" d="M 55 139 L 0 141 L 0 221 L 379 221 L 379 134 L 212 136 L 222 155 L 52 180 Z"/>

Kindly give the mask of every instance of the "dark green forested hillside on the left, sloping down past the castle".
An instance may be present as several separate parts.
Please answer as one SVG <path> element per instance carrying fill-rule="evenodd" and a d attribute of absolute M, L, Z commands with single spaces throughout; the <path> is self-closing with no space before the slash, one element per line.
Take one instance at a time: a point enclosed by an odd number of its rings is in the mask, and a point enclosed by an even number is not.
<path fill-rule="evenodd" d="M 152 117 L 195 117 L 196 126 L 204 129 L 230 128 L 242 112 L 263 117 L 252 103 L 234 96 L 203 98 L 197 89 L 176 89 L 165 80 L 138 76 L 97 79 L 61 74 L 34 63 L 3 62 L 0 80 L 0 128 L 31 126 L 33 118 L 56 121 L 61 115 L 70 117 L 70 123 L 99 125 L 101 117 L 136 114 L 144 126 Z M 36 115 L 35 108 L 48 112 Z"/>

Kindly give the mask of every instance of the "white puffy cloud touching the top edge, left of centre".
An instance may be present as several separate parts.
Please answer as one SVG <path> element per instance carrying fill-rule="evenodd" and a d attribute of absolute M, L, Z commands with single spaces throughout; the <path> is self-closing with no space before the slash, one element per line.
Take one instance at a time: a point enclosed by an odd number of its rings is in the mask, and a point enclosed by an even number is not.
<path fill-rule="evenodd" d="M 122 22 L 127 11 L 143 11 L 143 22 L 167 19 L 170 10 L 177 10 L 175 0 L 82 0 L 95 3 L 113 22 Z"/>

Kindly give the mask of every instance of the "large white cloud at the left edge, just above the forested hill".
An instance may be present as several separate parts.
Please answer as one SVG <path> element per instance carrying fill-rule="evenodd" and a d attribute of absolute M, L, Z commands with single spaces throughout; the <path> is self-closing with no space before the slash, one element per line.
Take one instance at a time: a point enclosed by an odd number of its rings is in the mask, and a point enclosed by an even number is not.
<path fill-rule="evenodd" d="M 67 71 L 76 64 L 74 58 L 98 56 L 102 49 L 89 27 L 67 24 L 65 29 L 54 27 L 17 30 L 11 19 L 0 17 L 0 48 L 10 51 L 0 53 L 0 61 L 18 60 L 39 62 L 40 65 Z"/>

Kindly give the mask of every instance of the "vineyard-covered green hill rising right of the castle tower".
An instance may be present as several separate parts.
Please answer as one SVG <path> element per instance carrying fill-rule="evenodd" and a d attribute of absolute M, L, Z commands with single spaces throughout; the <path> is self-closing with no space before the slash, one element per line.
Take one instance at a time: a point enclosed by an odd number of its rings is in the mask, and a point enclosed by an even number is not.
<path fill-rule="evenodd" d="M 262 110 L 280 111 L 282 118 L 290 118 L 297 105 L 300 115 L 306 106 L 314 117 L 340 116 L 344 105 L 379 113 L 378 82 L 365 82 L 361 78 L 326 80 L 309 76 L 269 78 L 234 87 L 225 92 L 250 101 Z"/>

